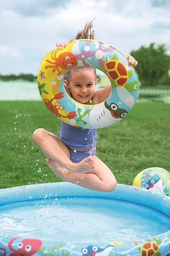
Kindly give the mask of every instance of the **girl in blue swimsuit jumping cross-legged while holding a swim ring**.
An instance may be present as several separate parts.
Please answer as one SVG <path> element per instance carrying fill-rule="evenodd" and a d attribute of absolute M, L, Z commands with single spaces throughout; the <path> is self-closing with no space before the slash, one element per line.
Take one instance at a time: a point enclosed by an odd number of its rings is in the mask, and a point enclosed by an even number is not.
<path fill-rule="evenodd" d="M 94 39 L 91 28 L 92 22 L 87 23 L 75 39 Z M 56 45 L 65 48 L 71 40 Z M 132 56 L 128 54 L 126 57 L 129 65 L 137 65 Z M 109 96 L 111 85 L 95 92 L 97 83 L 93 67 L 72 69 L 64 80 L 66 92 L 83 104 L 98 104 Z M 96 129 L 81 129 L 61 121 L 59 137 L 44 129 L 37 129 L 33 139 L 47 156 L 47 165 L 59 178 L 92 190 L 108 192 L 115 189 L 117 183 L 113 173 L 96 157 Z"/>

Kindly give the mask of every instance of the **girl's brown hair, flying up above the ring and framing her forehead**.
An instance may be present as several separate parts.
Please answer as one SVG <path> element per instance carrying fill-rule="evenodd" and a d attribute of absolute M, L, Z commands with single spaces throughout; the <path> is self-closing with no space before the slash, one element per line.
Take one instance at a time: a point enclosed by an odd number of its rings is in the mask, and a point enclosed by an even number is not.
<path fill-rule="evenodd" d="M 75 39 L 78 40 L 78 39 L 94 39 L 94 30 L 92 30 L 92 22 L 93 22 L 93 19 L 91 20 L 91 22 L 89 23 L 86 23 L 85 27 L 83 30 L 79 31 L 76 36 L 75 36 Z M 93 69 L 94 70 L 94 76 L 95 78 L 97 77 L 96 75 L 96 69 L 93 68 L 93 67 L 78 67 L 76 69 L 83 69 L 83 68 L 86 68 L 86 69 Z M 67 80 L 67 82 L 69 82 L 70 80 L 70 77 L 71 77 L 71 70 L 68 71 L 66 74 L 65 74 L 65 79 Z"/>

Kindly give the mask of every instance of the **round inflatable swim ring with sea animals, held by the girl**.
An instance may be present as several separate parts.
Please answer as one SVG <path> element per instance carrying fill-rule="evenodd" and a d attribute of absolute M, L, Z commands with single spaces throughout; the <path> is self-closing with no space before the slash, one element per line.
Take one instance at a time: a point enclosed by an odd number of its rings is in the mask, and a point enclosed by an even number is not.
<path fill-rule="evenodd" d="M 102 103 L 84 105 L 65 91 L 64 76 L 76 67 L 94 67 L 111 82 L 111 93 Z M 123 119 L 137 99 L 139 82 L 123 53 L 96 40 L 71 41 L 65 49 L 55 49 L 40 63 L 38 89 L 48 110 L 63 122 L 98 129 Z"/>

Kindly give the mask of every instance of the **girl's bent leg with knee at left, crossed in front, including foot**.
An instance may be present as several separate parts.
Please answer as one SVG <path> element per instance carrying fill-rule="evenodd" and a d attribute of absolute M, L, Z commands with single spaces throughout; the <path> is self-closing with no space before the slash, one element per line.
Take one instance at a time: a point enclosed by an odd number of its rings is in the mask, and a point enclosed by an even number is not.
<path fill-rule="evenodd" d="M 53 159 L 70 172 L 87 172 L 94 166 L 94 160 L 91 156 L 79 163 L 73 163 L 69 159 L 68 147 L 60 138 L 44 129 L 37 129 L 33 134 L 33 139 L 47 158 Z"/>

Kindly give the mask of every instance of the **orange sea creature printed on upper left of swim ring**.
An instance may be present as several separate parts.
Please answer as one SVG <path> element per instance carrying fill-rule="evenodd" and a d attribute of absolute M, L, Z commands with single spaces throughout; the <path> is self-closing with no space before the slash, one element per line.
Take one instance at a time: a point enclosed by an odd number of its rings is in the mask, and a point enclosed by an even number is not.
<path fill-rule="evenodd" d="M 46 59 L 46 62 L 50 63 L 51 65 L 45 66 L 45 69 L 53 68 L 53 72 L 55 72 L 57 70 L 58 75 L 61 74 L 61 72 L 58 69 L 59 67 L 61 69 L 66 69 L 67 70 L 67 69 L 75 68 L 78 65 L 77 58 L 71 52 L 63 52 L 57 58 L 56 54 L 59 50 L 61 50 L 61 49 L 57 49 L 57 50 L 52 51 L 51 57 L 54 61 Z"/>

